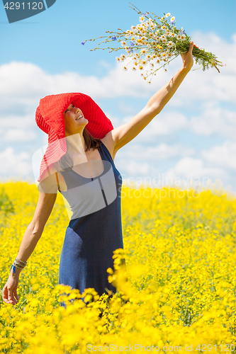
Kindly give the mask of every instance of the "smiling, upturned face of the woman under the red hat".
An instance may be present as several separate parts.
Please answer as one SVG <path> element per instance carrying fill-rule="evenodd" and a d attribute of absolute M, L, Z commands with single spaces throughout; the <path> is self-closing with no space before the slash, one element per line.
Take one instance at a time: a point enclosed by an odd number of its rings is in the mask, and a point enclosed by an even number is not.
<path fill-rule="evenodd" d="M 64 111 L 63 115 L 66 136 L 82 132 L 89 122 L 84 118 L 82 110 L 74 107 L 72 103 L 67 110 Z"/>

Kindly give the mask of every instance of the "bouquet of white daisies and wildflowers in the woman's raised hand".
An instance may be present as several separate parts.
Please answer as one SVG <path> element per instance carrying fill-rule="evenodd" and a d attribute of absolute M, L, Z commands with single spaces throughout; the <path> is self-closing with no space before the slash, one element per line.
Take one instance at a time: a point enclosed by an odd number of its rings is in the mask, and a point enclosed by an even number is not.
<path fill-rule="evenodd" d="M 99 45 L 93 50 L 109 49 L 110 52 L 125 50 L 125 54 L 116 57 L 118 62 L 124 62 L 126 58 L 130 58 L 130 62 L 123 69 L 128 70 L 128 65 L 134 71 L 140 71 L 143 78 L 146 80 L 148 76 L 156 75 L 157 70 L 165 67 L 169 62 L 178 57 L 181 53 L 188 52 L 191 38 L 186 35 L 183 28 L 178 30 L 175 25 L 175 18 L 170 13 L 163 17 L 158 17 L 154 13 L 142 13 L 136 6 L 130 3 L 138 14 L 140 14 L 140 23 L 132 25 L 130 30 L 123 31 L 118 28 L 119 32 L 106 31 L 109 35 L 101 36 L 104 38 L 102 43 L 115 42 L 119 43 L 119 47 L 101 48 Z M 92 41 L 99 38 L 91 39 Z M 85 44 L 87 40 L 82 42 Z M 222 67 L 222 62 L 217 60 L 217 57 L 204 49 L 193 47 L 193 58 L 196 63 L 202 64 L 203 71 L 210 67 L 220 72 L 218 67 Z M 164 64 L 162 64 L 162 62 Z M 158 64 L 162 64 L 156 68 Z M 167 71 L 167 69 L 165 69 Z M 148 81 L 148 82 L 151 82 Z"/>

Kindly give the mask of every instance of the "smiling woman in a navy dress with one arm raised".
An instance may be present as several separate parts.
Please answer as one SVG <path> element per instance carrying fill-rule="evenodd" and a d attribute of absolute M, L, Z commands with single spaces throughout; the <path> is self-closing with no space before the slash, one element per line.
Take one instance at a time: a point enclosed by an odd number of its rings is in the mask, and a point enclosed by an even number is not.
<path fill-rule="evenodd" d="M 181 54 L 181 69 L 168 84 L 154 93 L 145 108 L 132 120 L 116 129 L 112 129 L 109 120 L 106 120 L 106 135 L 104 131 L 100 132 L 100 139 L 92 139 L 86 131 L 86 105 L 83 109 L 73 102 L 67 105 L 63 111 L 64 132 L 60 127 L 61 136 L 57 134 L 57 139 L 50 137 L 51 144 L 47 147 L 50 161 L 43 159 L 40 166 L 38 205 L 2 290 L 4 302 L 13 305 L 18 302 L 19 274 L 43 233 L 55 204 L 57 188 L 68 198 L 73 211 L 60 259 L 60 284 L 70 285 L 81 293 L 86 287 L 94 287 L 99 295 L 106 291 L 116 292 L 116 288 L 107 282 L 106 273 L 107 268 L 113 268 L 113 251 L 123 248 L 120 198 L 117 198 L 120 196 L 122 181 L 113 160 L 118 149 L 136 137 L 172 98 L 193 66 L 192 50 L 193 42 L 189 51 Z M 54 115 L 60 107 L 49 105 L 42 109 L 47 113 L 45 116 L 48 120 L 40 128 L 47 131 L 47 124 L 57 125 Z M 99 110 L 96 112 L 101 113 Z M 99 125 L 96 128 L 99 129 Z M 66 155 L 67 158 L 63 161 L 63 156 Z M 95 194 L 91 190 L 96 190 Z M 99 195 L 95 202 L 94 195 Z M 86 198 L 89 200 L 87 203 Z M 78 205 L 80 200 L 83 200 L 82 205 Z"/>

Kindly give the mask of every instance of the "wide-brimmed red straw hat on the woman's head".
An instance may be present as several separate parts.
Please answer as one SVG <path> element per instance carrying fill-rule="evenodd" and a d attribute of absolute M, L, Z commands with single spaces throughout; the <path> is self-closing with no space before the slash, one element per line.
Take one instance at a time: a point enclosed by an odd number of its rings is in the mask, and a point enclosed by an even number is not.
<path fill-rule="evenodd" d="M 40 164 L 38 182 L 47 166 L 59 161 L 67 152 L 63 112 L 71 103 L 80 108 L 84 117 L 89 120 L 86 128 L 93 137 L 102 139 L 113 130 L 111 120 L 99 105 L 84 93 L 61 93 L 42 98 L 35 113 L 35 120 L 38 127 L 48 134 L 48 145 Z"/>

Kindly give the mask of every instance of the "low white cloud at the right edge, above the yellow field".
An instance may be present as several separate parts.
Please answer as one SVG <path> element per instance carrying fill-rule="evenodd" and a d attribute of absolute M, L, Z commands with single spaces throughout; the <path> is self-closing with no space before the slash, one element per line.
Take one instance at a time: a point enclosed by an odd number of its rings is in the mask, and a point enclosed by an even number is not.
<path fill-rule="evenodd" d="M 221 146 L 215 146 L 210 150 L 203 150 L 201 156 L 208 164 L 222 169 L 236 170 L 236 142 L 224 142 Z"/>

